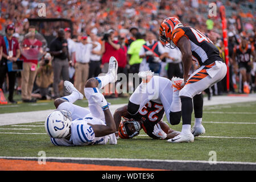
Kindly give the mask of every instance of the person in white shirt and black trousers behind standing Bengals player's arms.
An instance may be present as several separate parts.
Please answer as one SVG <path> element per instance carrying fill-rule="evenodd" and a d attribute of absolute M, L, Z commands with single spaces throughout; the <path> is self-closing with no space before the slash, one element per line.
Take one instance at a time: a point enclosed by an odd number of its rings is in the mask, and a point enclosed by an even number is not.
<path fill-rule="evenodd" d="M 166 57 L 166 63 L 168 63 L 167 75 L 168 78 L 172 77 L 183 77 L 183 67 L 182 67 L 182 55 L 179 48 L 170 49 L 165 47 L 168 52 L 168 56 Z"/>

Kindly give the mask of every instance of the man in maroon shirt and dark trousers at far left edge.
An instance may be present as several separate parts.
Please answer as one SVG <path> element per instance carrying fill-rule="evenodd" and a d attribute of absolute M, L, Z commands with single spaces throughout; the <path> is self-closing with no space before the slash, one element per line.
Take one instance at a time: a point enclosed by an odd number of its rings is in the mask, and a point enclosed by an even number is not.
<path fill-rule="evenodd" d="M 3 81 L 5 81 L 6 73 L 9 78 L 9 97 L 8 101 L 11 104 L 16 104 L 17 102 L 13 100 L 13 94 L 14 94 L 14 86 L 15 86 L 15 80 L 16 80 L 16 72 L 8 72 L 7 68 L 7 60 L 10 60 L 12 62 L 15 62 L 19 59 L 20 56 L 20 49 L 19 49 L 19 43 L 16 38 L 14 38 L 13 34 L 15 31 L 14 24 L 9 24 L 6 27 L 6 36 L 1 38 L 1 45 L 2 45 L 2 60 L 0 64 L 0 88 L 2 88 Z"/>

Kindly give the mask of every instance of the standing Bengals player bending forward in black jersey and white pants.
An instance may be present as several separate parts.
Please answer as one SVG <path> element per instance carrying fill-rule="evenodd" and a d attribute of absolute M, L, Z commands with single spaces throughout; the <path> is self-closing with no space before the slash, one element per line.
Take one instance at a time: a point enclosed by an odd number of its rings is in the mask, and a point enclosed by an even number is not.
<path fill-rule="evenodd" d="M 184 27 L 175 17 L 169 17 L 160 24 L 159 34 L 169 48 L 178 47 L 182 53 L 184 87 L 180 90 L 182 130 L 170 142 L 193 142 L 194 136 L 205 133 L 201 125 L 203 117 L 202 91 L 226 75 L 226 65 L 212 41 L 199 30 Z M 191 75 L 192 60 L 200 65 Z M 195 110 L 195 126 L 191 130 L 191 115 Z M 192 134 L 193 133 L 193 134 Z"/>

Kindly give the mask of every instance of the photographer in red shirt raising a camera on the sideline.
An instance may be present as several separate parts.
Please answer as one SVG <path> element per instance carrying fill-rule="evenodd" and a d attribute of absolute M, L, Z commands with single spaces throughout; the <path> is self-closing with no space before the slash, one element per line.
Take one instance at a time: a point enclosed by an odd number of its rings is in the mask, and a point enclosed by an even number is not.
<path fill-rule="evenodd" d="M 111 56 L 114 56 L 118 61 L 118 49 L 120 48 L 120 44 L 117 40 L 114 40 L 115 31 L 110 29 L 108 32 L 105 32 L 102 38 L 102 61 L 101 61 L 101 72 L 107 73 L 109 68 L 109 59 Z"/>

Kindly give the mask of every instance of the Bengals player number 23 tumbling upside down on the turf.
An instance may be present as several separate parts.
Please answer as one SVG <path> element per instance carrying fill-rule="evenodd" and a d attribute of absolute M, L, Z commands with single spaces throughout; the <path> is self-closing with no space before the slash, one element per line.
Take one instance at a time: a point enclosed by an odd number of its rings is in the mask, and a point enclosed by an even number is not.
<path fill-rule="evenodd" d="M 151 71 L 140 72 L 139 77 L 142 77 L 142 83 L 131 95 L 128 105 L 115 110 L 114 120 L 119 137 L 133 138 L 142 128 L 151 138 L 174 138 L 179 131 L 170 129 L 162 118 L 165 111 L 171 125 L 180 123 L 181 101 L 176 84 L 184 84 L 183 79 L 174 77 L 170 81 L 154 76 Z"/>

